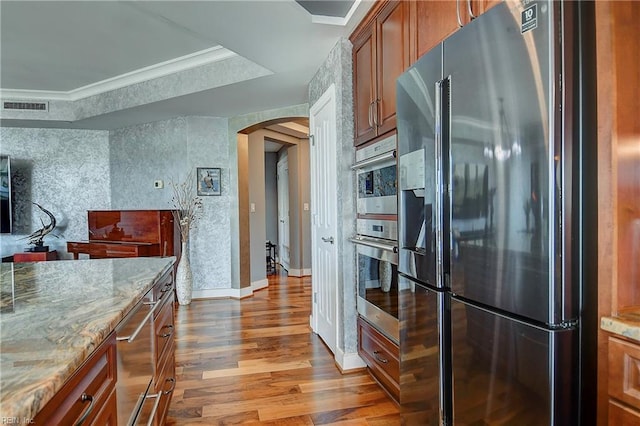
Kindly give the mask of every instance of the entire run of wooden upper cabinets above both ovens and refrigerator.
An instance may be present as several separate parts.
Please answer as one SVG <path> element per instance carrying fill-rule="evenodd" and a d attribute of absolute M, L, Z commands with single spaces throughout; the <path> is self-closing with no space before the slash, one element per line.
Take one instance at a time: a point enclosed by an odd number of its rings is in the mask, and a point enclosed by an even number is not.
<path fill-rule="evenodd" d="M 409 65 L 500 1 L 376 2 L 351 35 L 355 144 L 396 128 L 396 79 Z"/>

